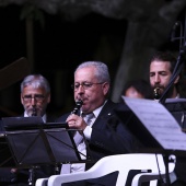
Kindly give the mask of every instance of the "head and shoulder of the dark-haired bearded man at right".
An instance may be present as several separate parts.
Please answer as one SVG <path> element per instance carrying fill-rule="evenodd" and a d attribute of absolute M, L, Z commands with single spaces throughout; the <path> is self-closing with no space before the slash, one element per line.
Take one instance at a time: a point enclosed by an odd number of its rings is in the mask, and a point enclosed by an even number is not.
<path fill-rule="evenodd" d="M 164 93 L 173 70 L 176 66 L 176 58 L 171 53 L 158 51 L 150 60 L 150 84 L 154 91 L 154 98 L 159 100 Z M 168 90 L 166 98 L 185 97 L 183 74 L 178 74 Z M 156 94 L 156 95 L 155 95 Z"/>

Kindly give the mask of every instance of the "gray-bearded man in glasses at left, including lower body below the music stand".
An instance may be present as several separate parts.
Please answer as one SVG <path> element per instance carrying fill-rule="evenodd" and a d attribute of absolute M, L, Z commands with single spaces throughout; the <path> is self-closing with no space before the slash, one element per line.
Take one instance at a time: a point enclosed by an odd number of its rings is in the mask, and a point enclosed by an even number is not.
<path fill-rule="evenodd" d="M 46 113 L 50 103 L 50 85 L 42 74 L 30 74 L 21 83 L 21 103 L 24 107 L 23 117 L 42 116 L 44 123 L 55 121 L 55 117 Z M 1 168 L 0 185 L 3 186 L 26 186 L 31 181 L 31 170 Z M 48 177 L 56 173 L 55 166 L 42 165 L 34 170 L 34 179 Z"/>

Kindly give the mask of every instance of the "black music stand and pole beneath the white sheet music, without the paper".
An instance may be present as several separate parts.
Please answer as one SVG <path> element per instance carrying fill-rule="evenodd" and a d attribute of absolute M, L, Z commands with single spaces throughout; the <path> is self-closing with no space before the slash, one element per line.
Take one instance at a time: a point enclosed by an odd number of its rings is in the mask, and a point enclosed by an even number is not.
<path fill-rule="evenodd" d="M 161 142 L 158 141 L 158 139 L 154 138 L 152 133 L 147 129 L 147 127 L 140 121 L 140 119 L 135 114 L 135 112 L 130 109 L 129 106 L 127 106 L 126 104 L 120 105 L 120 107 L 115 109 L 115 112 L 118 118 L 125 125 L 125 127 L 127 127 L 127 129 L 131 132 L 133 138 L 136 138 L 137 141 L 139 142 L 139 147 L 138 147 L 139 153 L 161 153 L 164 156 L 165 168 L 166 168 L 166 185 L 170 185 L 168 156 L 170 154 L 185 156 L 186 149 L 185 150 L 168 149 L 168 148 L 165 149 L 161 144 Z M 156 115 L 155 117 L 159 116 Z"/>

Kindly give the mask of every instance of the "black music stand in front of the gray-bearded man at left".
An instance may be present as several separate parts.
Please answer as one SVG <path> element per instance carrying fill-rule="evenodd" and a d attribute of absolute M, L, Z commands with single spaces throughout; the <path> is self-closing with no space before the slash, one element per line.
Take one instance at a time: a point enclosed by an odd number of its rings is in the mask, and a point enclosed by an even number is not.
<path fill-rule="evenodd" d="M 9 123 L 9 119 L 12 123 Z M 18 167 L 34 168 L 43 164 L 58 165 L 90 161 L 90 156 L 81 160 L 72 138 L 72 133 L 77 130 L 68 129 L 66 123 L 44 124 L 36 117 L 2 120 L 4 135 Z"/>

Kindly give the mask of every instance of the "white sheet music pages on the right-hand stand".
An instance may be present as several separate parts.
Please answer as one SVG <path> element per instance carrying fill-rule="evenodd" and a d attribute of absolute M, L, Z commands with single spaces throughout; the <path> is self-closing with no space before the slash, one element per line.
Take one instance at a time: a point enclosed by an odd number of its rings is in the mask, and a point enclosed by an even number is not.
<path fill-rule="evenodd" d="M 186 133 L 161 103 L 125 96 L 123 100 L 164 149 L 186 150 Z"/>

